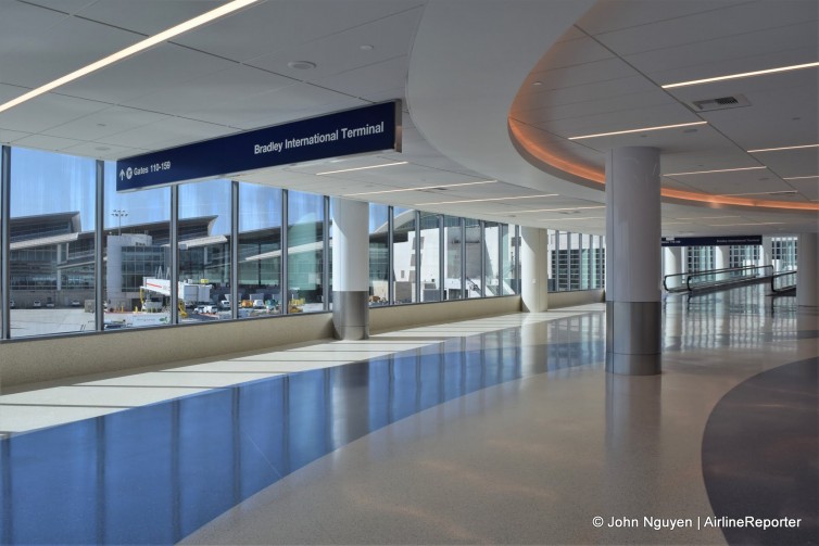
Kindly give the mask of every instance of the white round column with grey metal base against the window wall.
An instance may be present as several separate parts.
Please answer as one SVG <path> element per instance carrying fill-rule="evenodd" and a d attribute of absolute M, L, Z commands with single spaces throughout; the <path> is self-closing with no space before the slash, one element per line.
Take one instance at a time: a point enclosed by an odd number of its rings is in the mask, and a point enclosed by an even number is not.
<path fill-rule="evenodd" d="M 340 340 L 369 337 L 369 206 L 332 198 L 332 323 Z"/>

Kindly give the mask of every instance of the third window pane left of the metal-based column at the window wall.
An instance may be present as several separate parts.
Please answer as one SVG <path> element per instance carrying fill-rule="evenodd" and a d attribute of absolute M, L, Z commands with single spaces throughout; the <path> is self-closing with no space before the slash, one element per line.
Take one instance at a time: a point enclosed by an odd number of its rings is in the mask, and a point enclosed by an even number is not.
<path fill-rule="evenodd" d="M 179 320 L 229 319 L 230 180 L 179 187 Z"/>

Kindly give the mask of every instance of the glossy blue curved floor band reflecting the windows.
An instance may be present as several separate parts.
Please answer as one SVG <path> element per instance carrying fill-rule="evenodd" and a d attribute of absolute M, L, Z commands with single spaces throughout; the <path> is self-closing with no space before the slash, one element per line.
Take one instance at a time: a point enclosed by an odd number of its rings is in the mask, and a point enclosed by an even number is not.
<path fill-rule="evenodd" d="M 311 461 L 522 377 L 601 366 L 602 313 L 448 339 L 5 439 L 3 544 L 177 542 Z"/>

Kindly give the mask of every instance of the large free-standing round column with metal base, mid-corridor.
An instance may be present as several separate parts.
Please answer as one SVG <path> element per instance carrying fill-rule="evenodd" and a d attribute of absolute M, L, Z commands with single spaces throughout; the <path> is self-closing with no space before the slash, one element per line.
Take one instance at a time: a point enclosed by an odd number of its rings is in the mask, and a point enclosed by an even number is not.
<path fill-rule="evenodd" d="M 660 372 L 659 150 L 606 153 L 606 370 Z"/>

